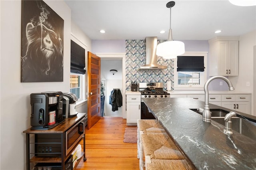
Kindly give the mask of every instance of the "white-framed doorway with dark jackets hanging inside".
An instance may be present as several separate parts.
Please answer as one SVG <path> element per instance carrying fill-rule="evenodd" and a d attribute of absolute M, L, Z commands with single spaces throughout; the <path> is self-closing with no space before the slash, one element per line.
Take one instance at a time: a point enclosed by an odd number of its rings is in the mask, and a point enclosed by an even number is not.
<path fill-rule="evenodd" d="M 101 62 L 101 81 L 104 86 L 104 117 L 122 117 L 126 119 L 126 102 L 125 102 L 125 53 L 96 53 Z M 110 70 L 117 70 L 111 73 Z M 122 107 L 112 111 L 110 95 L 113 89 L 120 89 L 122 94 Z M 102 110 L 102 109 L 101 109 Z"/>

